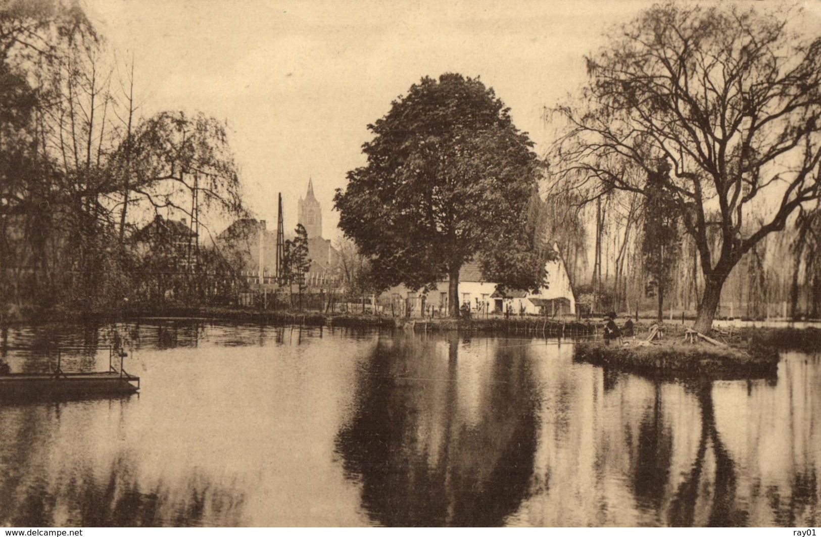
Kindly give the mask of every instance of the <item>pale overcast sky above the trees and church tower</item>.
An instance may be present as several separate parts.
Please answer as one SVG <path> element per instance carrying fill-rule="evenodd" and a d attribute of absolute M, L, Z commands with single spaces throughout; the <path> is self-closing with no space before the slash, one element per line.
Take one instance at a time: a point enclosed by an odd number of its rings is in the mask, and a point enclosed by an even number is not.
<path fill-rule="evenodd" d="M 422 76 L 480 76 L 542 153 L 543 108 L 579 88 L 603 30 L 652 3 L 85 2 L 112 48 L 133 53 L 144 115 L 200 110 L 227 121 L 245 201 L 269 227 L 280 191 L 286 227 L 296 225 L 313 177 L 326 238 L 337 236 L 334 190 L 364 163 L 365 127 Z"/>

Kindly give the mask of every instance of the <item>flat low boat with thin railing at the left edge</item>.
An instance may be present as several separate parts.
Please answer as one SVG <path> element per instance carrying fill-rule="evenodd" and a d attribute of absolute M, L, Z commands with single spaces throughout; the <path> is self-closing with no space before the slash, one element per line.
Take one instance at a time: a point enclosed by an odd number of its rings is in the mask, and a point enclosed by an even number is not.
<path fill-rule="evenodd" d="M 128 356 L 122 349 L 109 348 L 108 371 L 66 373 L 61 369 L 57 352 L 57 369 L 51 373 L 0 374 L 0 399 L 52 397 L 107 397 L 127 395 L 140 390 L 140 377 L 129 374 L 122 366 Z M 120 359 L 120 368 L 114 360 Z"/>

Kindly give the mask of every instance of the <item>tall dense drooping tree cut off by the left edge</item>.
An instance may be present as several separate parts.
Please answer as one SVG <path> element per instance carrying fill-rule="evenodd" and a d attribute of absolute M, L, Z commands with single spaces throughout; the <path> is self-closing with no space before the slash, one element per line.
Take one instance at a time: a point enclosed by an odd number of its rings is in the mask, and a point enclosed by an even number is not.
<path fill-rule="evenodd" d="M 67 218 L 76 174 L 45 132 L 65 97 L 54 73 L 97 40 L 76 2 L 0 2 L 0 309 L 53 305 L 71 287 L 66 269 L 85 272 L 63 247 L 77 231 Z"/>

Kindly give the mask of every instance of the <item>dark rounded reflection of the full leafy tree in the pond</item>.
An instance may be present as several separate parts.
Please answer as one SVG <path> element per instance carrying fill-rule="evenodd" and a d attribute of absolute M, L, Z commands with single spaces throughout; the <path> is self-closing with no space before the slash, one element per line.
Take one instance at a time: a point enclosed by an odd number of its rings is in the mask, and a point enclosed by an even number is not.
<path fill-rule="evenodd" d="M 378 343 L 358 379 L 355 416 L 337 435 L 337 452 L 375 521 L 498 526 L 516 510 L 536 447 L 537 397 L 524 348 L 502 342 L 488 370 L 457 382 L 468 365 L 457 339 Z"/>

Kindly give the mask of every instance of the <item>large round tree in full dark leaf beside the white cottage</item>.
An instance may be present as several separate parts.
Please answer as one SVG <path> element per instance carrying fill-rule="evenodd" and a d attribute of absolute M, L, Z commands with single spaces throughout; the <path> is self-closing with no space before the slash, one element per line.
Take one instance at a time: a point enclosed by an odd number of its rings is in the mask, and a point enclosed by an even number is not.
<path fill-rule="evenodd" d="M 370 258 L 378 286 L 434 287 L 479 258 L 488 281 L 539 287 L 544 255 L 527 218 L 539 161 L 493 89 L 478 79 L 425 77 L 368 126 L 368 163 L 334 197 L 340 227 Z"/>

